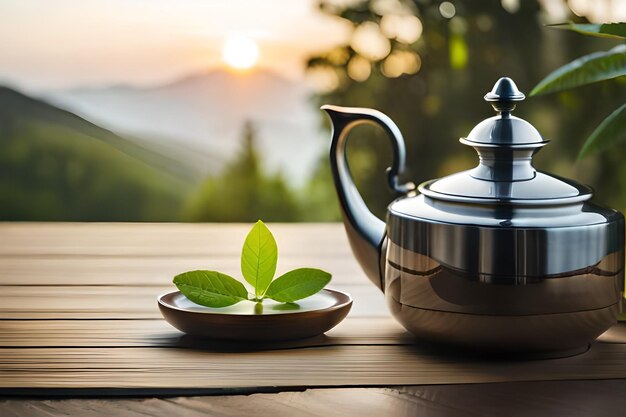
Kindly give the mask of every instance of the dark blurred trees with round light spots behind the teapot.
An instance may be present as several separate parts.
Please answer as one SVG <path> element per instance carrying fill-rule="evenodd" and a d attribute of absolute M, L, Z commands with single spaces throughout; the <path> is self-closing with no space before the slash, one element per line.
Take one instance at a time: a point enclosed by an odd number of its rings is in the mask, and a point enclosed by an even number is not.
<path fill-rule="evenodd" d="M 567 9 L 565 1 L 560 5 Z M 458 138 L 494 115 L 483 96 L 499 77 L 513 78 L 528 92 L 549 70 L 606 42 L 546 30 L 546 10 L 530 0 L 326 0 L 320 9 L 350 22 L 352 34 L 346 44 L 308 61 L 310 76 L 325 88 L 318 104 L 373 107 L 389 115 L 407 143 L 407 179 L 417 183 L 476 165 L 476 154 Z M 574 163 L 586 134 L 620 102 L 618 83 L 607 83 L 614 91 L 601 102 L 597 91 L 583 88 L 527 100 L 515 114 L 555 139 L 535 166 L 591 183 L 598 201 L 624 208 L 624 152 Z M 348 146 L 357 186 L 379 216 L 394 197 L 386 186 L 390 151 L 382 134 L 359 127 Z M 321 174 L 314 179 L 322 180 Z"/>

